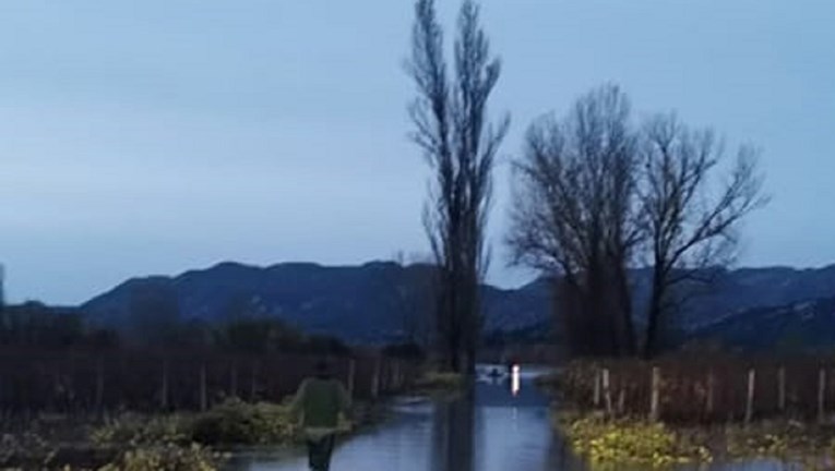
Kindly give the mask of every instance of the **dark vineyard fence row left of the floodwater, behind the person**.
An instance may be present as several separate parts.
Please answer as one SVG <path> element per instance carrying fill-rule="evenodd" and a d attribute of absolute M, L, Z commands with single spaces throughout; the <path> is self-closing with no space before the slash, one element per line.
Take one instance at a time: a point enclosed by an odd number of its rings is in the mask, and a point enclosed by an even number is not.
<path fill-rule="evenodd" d="M 228 397 L 282 401 L 318 357 L 182 351 L 0 350 L 0 414 L 205 410 Z M 373 399 L 408 387 L 414 362 L 380 354 L 332 358 L 350 392 Z"/>

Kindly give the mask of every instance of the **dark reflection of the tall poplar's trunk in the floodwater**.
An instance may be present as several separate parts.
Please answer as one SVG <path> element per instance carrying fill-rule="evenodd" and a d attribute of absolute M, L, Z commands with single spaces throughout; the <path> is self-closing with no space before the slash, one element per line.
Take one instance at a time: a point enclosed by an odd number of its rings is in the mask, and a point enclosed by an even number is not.
<path fill-rule="evenodd" d="M 475 398 L 472 387 L 464 397 L 438 401 L 432 422 L 432 459 L 427 471 L 475 471 Z"/>

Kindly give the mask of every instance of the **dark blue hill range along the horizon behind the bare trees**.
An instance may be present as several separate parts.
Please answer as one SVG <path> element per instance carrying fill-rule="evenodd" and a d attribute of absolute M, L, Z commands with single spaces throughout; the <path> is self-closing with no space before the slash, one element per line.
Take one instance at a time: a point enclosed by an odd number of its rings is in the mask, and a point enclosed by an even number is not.
<path fill-rule="evenodd" d="M 130 279 L 81 307 L 95 324 L 111 327 L 172 317 L 215 323 L 266 315 L 311 334 L 380 343 L 404 338 L 419 327 L 414 323 L 418 313 L 431 311 L 429 274 L 427 265 L 404 267 L 390 262 L 339 267 L 286 263 L 263 268 L 222 263 L 176 277 Z M 835 297 L 835 265 L 742 268 L 711 275 L 712 282 L 699 285 L 699 295 L 681 316 L 679 327 L 687 333 L 720 326 L 724 319 L 742 314 L 752 316 L 751 310 Z M 642 313 L 649 270 L 634 270 L 632 280 L 635 311 Z M 481 289 L 486 334 L 534 335 L 550 329 L 552 294 L 546 280 L 518 289 L 489 285 Z M 143 318 L 136 319 L 135 313 L 144 313 Z"/>

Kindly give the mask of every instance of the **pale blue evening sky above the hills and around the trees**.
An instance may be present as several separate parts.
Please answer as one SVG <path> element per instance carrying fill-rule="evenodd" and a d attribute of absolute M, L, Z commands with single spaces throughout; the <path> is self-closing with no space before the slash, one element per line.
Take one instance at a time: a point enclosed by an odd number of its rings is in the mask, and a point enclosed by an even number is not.
<path fill-rule="evenodd" d="M 457 1 L 439 0 L 453 25 Z M 835 2 L 484 0 L 509 162 L 537 117 L 603 83 L 751 143 L 773 196 L 739 264 L 835 263 Z M 407 0 L 0 3 L 0 261 L 12 301 L 80 303 L 222 261 L 359 264 L 427 252 L 407 138 Z M 449 29 L 449 28 L 448 28 Z M 449 36 L 449 35 L 448 35 Z"/>

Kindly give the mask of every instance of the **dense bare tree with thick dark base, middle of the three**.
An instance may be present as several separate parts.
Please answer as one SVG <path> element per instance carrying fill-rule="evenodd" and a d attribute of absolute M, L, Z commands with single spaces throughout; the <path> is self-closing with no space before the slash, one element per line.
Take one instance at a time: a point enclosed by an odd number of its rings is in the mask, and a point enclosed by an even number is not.
<path fill-rule="evenodd" d="M 613 85 L 565 119 L 530 126 L 515 162 L 513 259 L 557 279 L 556 309 L 575 354 L 635 351 L 628 267 L 640 241 L 635 135 Z"/>

